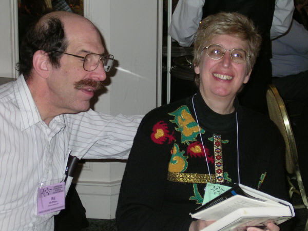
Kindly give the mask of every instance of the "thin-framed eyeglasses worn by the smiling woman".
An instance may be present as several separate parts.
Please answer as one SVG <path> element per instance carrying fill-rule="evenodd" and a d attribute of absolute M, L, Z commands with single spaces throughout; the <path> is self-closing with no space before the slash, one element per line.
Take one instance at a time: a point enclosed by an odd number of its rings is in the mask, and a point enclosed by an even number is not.
<path fill-rule="evenodd" d="M 206 49 L 207 56 L 212 60 L 220 60 L 227 50 L 219 44 L 211 44 L 204 49 Z M 245 50 L 241 48 L 234 48 L 227 51 L 230 52 L 231 60 L 235 63 L 245 63 L 247 58 L 250 56 Z"/>

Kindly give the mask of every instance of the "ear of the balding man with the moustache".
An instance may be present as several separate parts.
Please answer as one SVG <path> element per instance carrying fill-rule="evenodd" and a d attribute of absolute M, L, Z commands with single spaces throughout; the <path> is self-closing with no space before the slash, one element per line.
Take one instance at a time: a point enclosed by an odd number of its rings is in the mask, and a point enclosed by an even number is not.
<path fill-rule="evenodd" d="M 49 55 L 46 51 L 37 50 L 33 55 L 33 69 L 38 75 L 46 79 L 49 75 L 51 65 L 49 63 Z"/>

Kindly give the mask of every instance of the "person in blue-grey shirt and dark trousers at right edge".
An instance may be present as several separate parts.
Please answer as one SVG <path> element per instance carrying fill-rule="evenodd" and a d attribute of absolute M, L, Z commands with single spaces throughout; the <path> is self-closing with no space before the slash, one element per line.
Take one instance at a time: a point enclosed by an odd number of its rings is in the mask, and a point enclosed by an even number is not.
<path fill-rule="evenodd" d="M 294 15 L 300 14 L 299 12 L 296 9 Z M 307 37 L 308 30 L 294 18 L 287 33 L 272 42 L 273 83 L 284 100 L 296 100 L 304 104 L 307 102 Z"/>

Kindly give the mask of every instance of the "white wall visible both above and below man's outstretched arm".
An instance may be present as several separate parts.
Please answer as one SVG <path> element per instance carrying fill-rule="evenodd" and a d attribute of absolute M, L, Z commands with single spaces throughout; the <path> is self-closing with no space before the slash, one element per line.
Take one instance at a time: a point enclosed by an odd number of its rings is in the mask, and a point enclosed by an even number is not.
<path fill-rule="evenodd" d="M 119 62 L 95 110 L 131 115 L 156 107 L 157 11 L 152 0 L 85 1 L 85 16 Z M 114 218 L 124 168 L 119 162 L 85 164 L 76 188 L 88 218 Z"/>

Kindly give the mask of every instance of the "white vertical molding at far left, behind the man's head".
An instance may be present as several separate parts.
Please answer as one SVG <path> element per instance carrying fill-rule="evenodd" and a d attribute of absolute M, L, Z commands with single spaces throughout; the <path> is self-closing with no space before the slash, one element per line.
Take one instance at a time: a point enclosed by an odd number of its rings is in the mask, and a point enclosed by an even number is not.
<path fill-rule="evenodd" d="M 17 1 L 10 1 L 11 10 L 11 55 L 12 55 L 12 75 L 13 78 L 18 77 L 18 71 L 15 69 L 18 63 L 18 7 Z"/>

